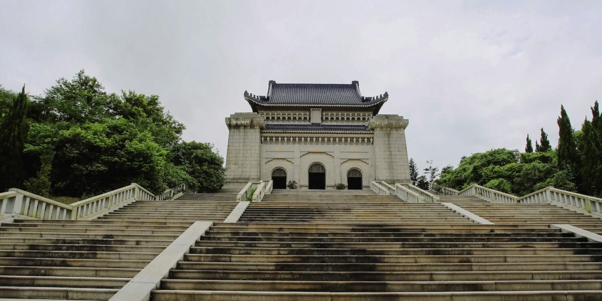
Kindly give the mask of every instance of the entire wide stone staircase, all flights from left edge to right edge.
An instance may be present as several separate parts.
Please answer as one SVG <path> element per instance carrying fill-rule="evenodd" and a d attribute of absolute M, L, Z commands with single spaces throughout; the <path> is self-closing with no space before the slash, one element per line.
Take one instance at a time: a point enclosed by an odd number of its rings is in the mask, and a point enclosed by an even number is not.
<path fill-rule="evenodd" d="M 496 223 L 481 225 L 440 203 L 371 191 L 275 190 L 223 223 L 237 192 L 138 201 L 97 220 L 3 223 L 0 300 L 108 300 L 197 220 L 214 225 L 151 300 L 602 296 L 602 243 L 549 227 L 600 219 L 558 206 L 442 197 Z"/>

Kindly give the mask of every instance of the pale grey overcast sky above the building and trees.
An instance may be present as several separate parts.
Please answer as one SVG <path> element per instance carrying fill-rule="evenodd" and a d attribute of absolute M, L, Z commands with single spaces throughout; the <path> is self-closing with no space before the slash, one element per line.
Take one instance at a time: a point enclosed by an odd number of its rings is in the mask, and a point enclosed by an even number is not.
<path fill-rule="evenodd" d="M 226 155 L 224 118 L 270 79 L 389 92 L 408 154 L 457 166 L 557 144 L 602 99 L 602 1 L 6 1 L 0 84 L 40 94 L 80 69 L 108 92 L 159 95 L 184 140 Z"/>

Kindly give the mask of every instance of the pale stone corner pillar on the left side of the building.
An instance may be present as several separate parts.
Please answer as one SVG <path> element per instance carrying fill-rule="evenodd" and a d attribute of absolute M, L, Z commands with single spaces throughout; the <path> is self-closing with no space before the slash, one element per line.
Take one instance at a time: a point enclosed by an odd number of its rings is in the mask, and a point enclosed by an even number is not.
<path fill-rule="evenodd" d="M 228 152 L 226 153 L 226 184 L 243 188 L 247 182 L 261 179 L 261 128 L 265 125 L 258 113 L 235 113 L 226 117 Z"/>

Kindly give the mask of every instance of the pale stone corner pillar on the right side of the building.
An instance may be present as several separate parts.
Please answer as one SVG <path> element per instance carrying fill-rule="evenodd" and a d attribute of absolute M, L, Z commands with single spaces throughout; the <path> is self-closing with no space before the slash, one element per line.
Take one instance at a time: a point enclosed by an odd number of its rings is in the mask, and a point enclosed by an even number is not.
<path fill-rule="evenodd" d="M 374 178 L 390 185 L 410 184 L 405 128 L 408 119 L 398 115 L 376 115 L 368 127 L 374 129 Z"/>

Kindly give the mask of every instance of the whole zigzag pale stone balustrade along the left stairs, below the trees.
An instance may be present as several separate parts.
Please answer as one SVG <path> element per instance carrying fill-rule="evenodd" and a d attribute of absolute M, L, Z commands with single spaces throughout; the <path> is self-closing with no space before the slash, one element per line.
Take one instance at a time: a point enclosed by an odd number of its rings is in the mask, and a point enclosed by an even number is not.
<path fill-rule="evenodd" d="M 171 190 L 170 194 L 176 196 L 186 190 L 185 185 L 181 185 Z M 174 191 L 176 193 L 173 193 Z M 7 193 L 0 194 L 0 217 L 22 216 L 33 219 L 85 220 L 92 219 L 134 200 L 157 199 L 158 197 L 155 194 L 135 183 L 80 200 L 71 205 L 65 205 L 37 194 L 11 188 Z"/>

